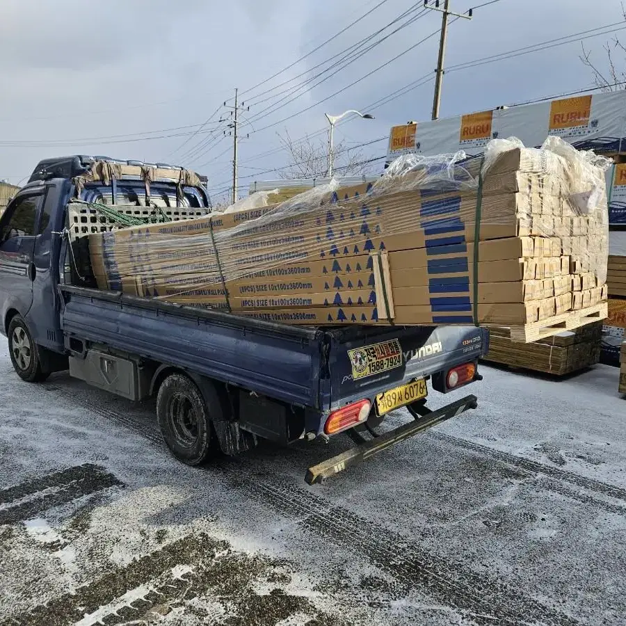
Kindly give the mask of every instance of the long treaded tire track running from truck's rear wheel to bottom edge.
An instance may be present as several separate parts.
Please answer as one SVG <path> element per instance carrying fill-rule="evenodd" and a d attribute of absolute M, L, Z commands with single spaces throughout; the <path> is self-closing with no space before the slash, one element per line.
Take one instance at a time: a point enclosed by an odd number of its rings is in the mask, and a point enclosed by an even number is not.
<path fill-rule="evenodd" d="M 114 411 L 102 410 L 90 401 L 79 401 L 97 415 L 117 419 Z M 125 417 L 124 422 L 127 422 Z M 150 438 L 154 441 L 154 438 Z M 159 444 L 162 440 L 159 438 Z M 264 506 L 298 519 L 306 531 L 329 539 L 358 556 L 366 558 L 396 580 L 419 592 L 436 597 L 461 613 L 470 613 L 479 625 L 520 624 L 520 616 L 543 620 L 551 626 L 575 626 L 577 620 L 547 607 L 528 595 L 506 586 L 497 579 L 472 572 L 431 554 L 419 543 L 393 536 L 342 506 L 277 479 L 266 481 L 251 474 L 245 465 L 218 465 L 226 478 L 246 490 Z"/>

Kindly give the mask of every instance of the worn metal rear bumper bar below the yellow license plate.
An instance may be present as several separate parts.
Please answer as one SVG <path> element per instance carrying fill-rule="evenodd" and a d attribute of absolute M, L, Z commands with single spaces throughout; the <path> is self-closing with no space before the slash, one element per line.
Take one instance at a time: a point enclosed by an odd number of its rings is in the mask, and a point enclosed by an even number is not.
<path fill-rule="evenodd" d="M 339 474 L 339 472 L 345 470 L 346 467 L 360 463 L 362 460 L 367 460 L 375 454 L 378 454 L 379 452 L 382 452 L 383 450 L 386 450 L 387 448 L 404 441 L 413 435 L 423 433 L 424 431 L 427 431 L 428 428 L 436 426 L 441 422 L 445 422 L 451 417 L 456 417 L 468 409 L 475 409 L 477 406 L 478 403 L 476 396 L 470 395 L 444 406 L 443 408 L 428 412 L 428 414 L 424 415 L 424 417 L 419 417 L 419 419 L 415 419 L 409 424 L 403 424 L 398 428 L 394 428 L 393 431 L 380 435 L 371 441 L 359 444 L 358 446 L 346 450 L 341 454 L 337 454 L 337 456 L 333 456 L 332 458 L 323 461 L 323 463 L 309 467 L 305 476 L 305 481 L 310 485 L 321 483 L 323 479 Z"/>

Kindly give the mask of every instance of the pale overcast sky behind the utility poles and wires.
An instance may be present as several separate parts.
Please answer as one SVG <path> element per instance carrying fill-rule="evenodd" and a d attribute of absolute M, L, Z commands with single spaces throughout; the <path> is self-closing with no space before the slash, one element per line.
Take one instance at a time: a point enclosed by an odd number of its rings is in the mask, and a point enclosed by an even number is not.
<path fill-rule="evenodd" d="M 451 8 L 463 13 L 485 1 L 451 0 Z M 227 110 L 218 107 L 225 99 L 232 104 L 235 87 L 250 105 L 245 113 L 250 125 L 241 129 L 250 138 L 241 141 L 239 150 L 244 190 L 255 177 L 275 178 L 263 172 L 288 161 L 287 154 L 277 150 L 277 132 L 300 138 L 321 131 L 326 127 L 325 112 L 355 108 L 376 116 L 374 121 L 353 118 L 337 127 L 336 141 L 347 145 L 387 136 L 394 124 L 427 120 L 432 80 L 386 104 L 369 105 L 433 73 L 438 35 L 346 88 L 440 27 L 441 14 L 433 10 L 422 15 L 421 0 L 379 4 L 380 0 L 2 0 L 0 179 L 17 184 L 46 157 L 106 154 L 184 165 L 208 175 L 209 188 L 225 189 L 230 185 L 232 143 L 218 121 Z M 340 61 L 346 48 L 413 6 L 408 17 L 418 19 L 353 63 L 310 81 L 329 63 Z M 588 0 L 495 1 L 477 9 L 471 21 L 451 24 L 446 66 L 613 24 L 622 17 L 619 0 L 595 2 L 593 10 L 591 6 Z M 372 9 L 358 24 L 298 61 Z M 626 40 L 623 31 L 616 34 Z M 602 67 L 606 67 L 602 45 L 613 36 L 585 42 Z M 450 69 L 444 77 L 441 116 L 590 87 L 593 77 L 580 63 L 579 51 L 580 43 L 573 42 L 470 69 Z M 273 74 L 278 76 L 271 79 Z M 282 84 L 289 79 L 294 80 Z M 296 90 L 303 81 L 308 82 Z M 319 81 L 323 82 L 314 86 Z M 333 95 L 336 92 L 340 93 Z M 275 111 L 264 111 L 273 104 Z M 371 143 L 362 150 L 366 157 L 378 157 L 385 153 L 386 143 Z"/>

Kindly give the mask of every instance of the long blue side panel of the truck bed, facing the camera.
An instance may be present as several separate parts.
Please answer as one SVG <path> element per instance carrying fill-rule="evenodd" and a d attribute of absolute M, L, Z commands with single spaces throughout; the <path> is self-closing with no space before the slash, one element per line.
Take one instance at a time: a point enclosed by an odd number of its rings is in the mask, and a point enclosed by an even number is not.
<path fill-rule="evenodd" d="M 240 318 L 129 304 L 82 289 L 66 294 L 63 331 L 147 359 L 177 365 L 303 406 L 319 402 L 321 334 L 280 333 Z M 94 295 L 87 295 L 92 292 Z M 222 316 L 223 318 L 226 316 Z M 241 320 L 241 321 L 240 321 Z M 289 329 L 287 329 L 289 330 Z"/>

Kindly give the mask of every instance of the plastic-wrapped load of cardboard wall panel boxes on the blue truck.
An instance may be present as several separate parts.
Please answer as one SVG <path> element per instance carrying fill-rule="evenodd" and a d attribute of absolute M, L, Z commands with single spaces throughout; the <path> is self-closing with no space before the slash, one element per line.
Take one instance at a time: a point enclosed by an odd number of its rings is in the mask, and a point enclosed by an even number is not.
<path fill-rule="evenodd" d="M 284 323 L 496 324 L 522 342 L 603 319 L 607 159 L 558 138 L 460 157 L 408 155 L 374 183 L 90 235 L 95 280 Z"/>

